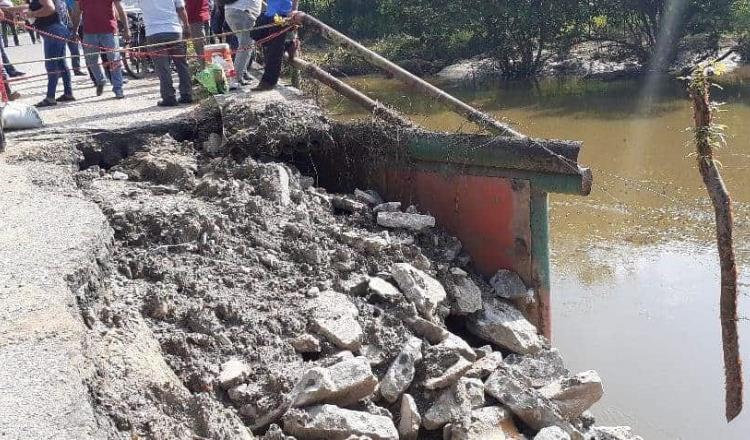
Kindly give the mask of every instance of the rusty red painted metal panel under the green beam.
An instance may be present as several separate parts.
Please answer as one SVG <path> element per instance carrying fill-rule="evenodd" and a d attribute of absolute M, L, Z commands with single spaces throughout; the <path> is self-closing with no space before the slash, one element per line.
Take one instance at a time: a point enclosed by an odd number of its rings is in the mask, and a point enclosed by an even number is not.
<path fill-rule="evenodd" d="M 526 181 L 425 171 L 390 171 L 380 188 L 389 199 L 417 204 L 458 237 L 475 268 L 531 281 L 530 191 Z"/>

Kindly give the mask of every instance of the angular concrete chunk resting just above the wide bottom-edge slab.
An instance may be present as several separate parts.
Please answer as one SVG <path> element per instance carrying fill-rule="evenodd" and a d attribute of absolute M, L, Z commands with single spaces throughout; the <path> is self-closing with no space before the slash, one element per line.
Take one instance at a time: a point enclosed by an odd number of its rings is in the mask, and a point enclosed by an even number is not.
<path fill-rule="evenodd" d="M 318 403 L 349 406 L 374 393 L 377 384 L 365 357 L 344 360 L 328 368 L 312 368 L 292 390 L 292 406 Z"/>

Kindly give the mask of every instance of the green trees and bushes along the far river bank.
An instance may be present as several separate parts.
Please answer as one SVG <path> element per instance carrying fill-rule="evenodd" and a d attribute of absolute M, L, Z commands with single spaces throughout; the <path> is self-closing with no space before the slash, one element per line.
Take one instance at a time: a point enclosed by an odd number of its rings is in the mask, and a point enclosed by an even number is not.
<path fill-rule="evenodd" d="M 508 77 L 534 76 L 548 57 L 586 41 L 658 65 L 688 38 L 750 41 L 750 0 L 302 0 L 302 8 L 397 61 L 487 54 Z M 655 59 L 657 48 L 665 59 Z"/>

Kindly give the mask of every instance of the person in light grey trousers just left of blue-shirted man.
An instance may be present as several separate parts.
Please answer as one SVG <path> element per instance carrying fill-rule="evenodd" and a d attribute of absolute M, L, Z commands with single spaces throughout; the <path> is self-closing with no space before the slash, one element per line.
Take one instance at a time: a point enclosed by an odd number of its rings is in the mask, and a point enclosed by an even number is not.
<path fill-rule="evenodd" d="M 255 55 L 255 41 L 253 41 L 252 32 L 249 29 L 253 27 L 255 21 L 258 19 L 263 5 L 261 0 L 222 1 L 224 3 L 224 16 L 227 24 L 229 24 L 239 42 L 237 57 L 234 60 L 234 71 L 237 73 L 237 76 L 229 84 L 230 90 L 236 90 L 240 85 L 247 85 L 243 76 L 247 72 L 250 63 L 253 62 L 253 56 Z"/>

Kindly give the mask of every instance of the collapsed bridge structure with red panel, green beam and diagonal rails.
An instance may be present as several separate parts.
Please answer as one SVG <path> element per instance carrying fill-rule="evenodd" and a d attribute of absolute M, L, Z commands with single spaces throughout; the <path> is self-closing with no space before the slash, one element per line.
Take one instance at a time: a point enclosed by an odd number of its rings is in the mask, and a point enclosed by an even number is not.
<path fill-rule="evenodd" d="M 374 184 L 390 199 L 416 203 L 461 239 L 485 275 L 518 273 L 535 292 L 525 307 L 540 333 L 551 336 L 549 193 L 588 195 L 592 174 L 578 163 L 581 143 L 532 139 L 410 74 L 320 20 L 308 28 L 354 51 L 413 90 L 446 105 L 488 132 L 456 135 L 413 131 L 405 142 L 408 166 L 381 167 Z M 407 125 L 387 109 L 319 67 L 291 60 L 303 73 L 364 106 L 387 122 Z"/>

